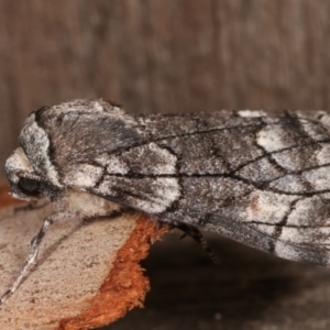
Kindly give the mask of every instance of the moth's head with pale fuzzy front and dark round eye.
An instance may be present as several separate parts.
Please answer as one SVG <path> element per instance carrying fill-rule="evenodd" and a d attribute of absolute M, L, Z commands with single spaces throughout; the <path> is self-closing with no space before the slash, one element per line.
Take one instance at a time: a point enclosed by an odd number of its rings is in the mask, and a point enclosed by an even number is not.
<path fill-rule="evenodd" d="M 58 191 L 56 187 L 52 189 L 33 169 L 22 147 L 18 147 L 7 160 L 6 173 L 11 187 L 10 195 L 14 198 L 36 200 L 44 196 L 52 199 L 52 191 Z"/>

